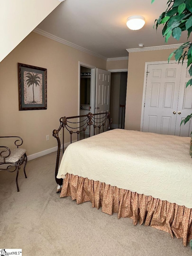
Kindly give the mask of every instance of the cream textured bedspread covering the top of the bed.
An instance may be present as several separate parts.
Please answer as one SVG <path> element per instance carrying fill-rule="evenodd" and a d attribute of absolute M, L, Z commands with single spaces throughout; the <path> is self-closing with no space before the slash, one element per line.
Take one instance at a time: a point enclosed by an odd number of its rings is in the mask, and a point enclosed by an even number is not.
<path fill-rule="evenodd" d="M 115 129 L 67 147 L 66 173 L 192 208 L 190 138 Z"/>

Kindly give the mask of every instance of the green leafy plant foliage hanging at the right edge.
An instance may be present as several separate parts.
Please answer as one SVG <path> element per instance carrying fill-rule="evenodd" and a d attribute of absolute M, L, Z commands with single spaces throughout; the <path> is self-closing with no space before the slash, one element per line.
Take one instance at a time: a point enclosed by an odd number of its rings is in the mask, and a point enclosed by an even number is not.
<path fill-rule="evenodd" d="M 152 3 L 155 0 L 152 0 Z M 192 0 L 169 0 L 167 2 L 167 9 L 155 20 L 154 26 L 156 30 L 158 26 L 163 24 L 162 35 L 167 43 L 170 36 L 173 36 L 177 40 L 181 37 L 182 31 L 188 32 L 187 40 L 192 32 Z M 175 56 L 176 61 L 182 62 L 187 59 L 187 67 L 189 68 L 189 74 L 192 76 L 192 43 L 187 41 L 177 48 L 168 57 L 168 62 L 172 56 Z M 192 85 L 192 78 L 187 82 L 187 86 Z M 188 122 L 192 117 L 192 113 L 182 120 L 181 124 Z"/>

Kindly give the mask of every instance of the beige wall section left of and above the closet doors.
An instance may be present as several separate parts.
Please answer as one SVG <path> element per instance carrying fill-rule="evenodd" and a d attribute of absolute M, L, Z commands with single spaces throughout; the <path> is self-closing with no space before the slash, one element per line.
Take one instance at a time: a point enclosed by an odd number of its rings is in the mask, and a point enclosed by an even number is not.
<path fill-rule="evenodd" d="M 129 53 L 125 129 L 140 131 L 145 62 L 166 61 L 173 50 Z"/>

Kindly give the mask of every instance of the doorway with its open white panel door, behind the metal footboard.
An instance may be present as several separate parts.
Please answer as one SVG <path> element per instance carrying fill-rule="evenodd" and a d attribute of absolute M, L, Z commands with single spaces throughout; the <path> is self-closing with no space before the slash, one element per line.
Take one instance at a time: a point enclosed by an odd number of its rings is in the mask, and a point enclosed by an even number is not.
<path fill-rule="evenodd" d="M 110 110 L 110 82 L 110 71 L 79 62 L 79 115 Z M 92 129 L 90 136 L 93 134 Z"/>

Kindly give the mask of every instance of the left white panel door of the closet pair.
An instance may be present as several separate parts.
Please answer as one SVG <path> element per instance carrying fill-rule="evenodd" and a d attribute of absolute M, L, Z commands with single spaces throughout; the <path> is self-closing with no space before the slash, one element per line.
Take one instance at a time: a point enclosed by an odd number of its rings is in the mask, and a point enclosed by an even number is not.
<path fill-rule="evenodd" d="M 177 63 L 148 66 L 143 131 L 175 134 L 181 67 Z"/>

